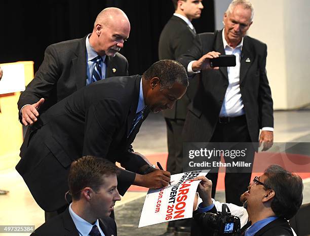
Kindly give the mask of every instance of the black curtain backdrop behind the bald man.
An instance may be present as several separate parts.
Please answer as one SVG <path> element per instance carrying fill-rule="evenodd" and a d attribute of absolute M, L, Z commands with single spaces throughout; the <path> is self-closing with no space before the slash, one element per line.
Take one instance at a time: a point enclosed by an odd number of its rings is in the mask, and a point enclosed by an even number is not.
<path fill-rule="evenodd" d="M 213 0 L 203 1 L 197 32 L 214 31 Z M 97 14 L 118 7 L 131 23 L 129 40 L 121 53 L 129 61 L 129 74 L 142 74 L 158 60 L 158 41 L 174 8 L 170 0 L 10 0 L 0 3 L 0 63 L 32 60 L 36 71 L 50 44 L 90 33 Z"/>

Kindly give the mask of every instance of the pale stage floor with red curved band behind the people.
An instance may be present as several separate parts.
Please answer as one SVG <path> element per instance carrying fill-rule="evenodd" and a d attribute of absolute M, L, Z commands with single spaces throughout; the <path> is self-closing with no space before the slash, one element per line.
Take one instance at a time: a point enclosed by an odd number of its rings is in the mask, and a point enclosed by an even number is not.
<path fill-rule="evenodd" d="M 310 111 L 275 112 L 275 142 L 310 142 Z M 146 155 L 156 163 L 166 166 L 167 138 L 166 125 L 161 114 L 150 114 L 141 127 L 133 144 L 135 151 Z M 310 153 L 309 153 L 310 154 Z M 310 172 L 310 171 L 309 171 Z M 303 203 L 310 202 L 310 179 L 308 173 L 303 176 Z M 217 187 L 216 198 L 224 201 L 223 174 Z M 23 179 L 14 167 L 0 171 L 0 189 L 10 192 L 0 195 L 1 225 L 35 225 L 44 223 L 44 211 L 34 202 Z M 118 235 L 159 235 L 165 231 L 166 223 L 137 228 L 146 189 L 131 187 L 122 201 L 115 206 L 115 218 Z M 12 235 L 1 234 L 0 235 Z M 19 233 L 18 235 L 29 235 Z"/>

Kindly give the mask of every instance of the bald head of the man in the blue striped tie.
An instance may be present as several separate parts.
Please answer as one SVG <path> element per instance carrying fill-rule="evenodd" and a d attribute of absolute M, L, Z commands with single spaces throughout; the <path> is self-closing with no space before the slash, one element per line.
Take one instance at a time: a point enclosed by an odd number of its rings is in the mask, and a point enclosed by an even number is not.
<path fill-rule="evenodd" d="M 98 55 L 115 56 L 124 47 L 129 32 L 126 14 L 119 8 L 106 8 L 98 14 L 89 42 Z"/>

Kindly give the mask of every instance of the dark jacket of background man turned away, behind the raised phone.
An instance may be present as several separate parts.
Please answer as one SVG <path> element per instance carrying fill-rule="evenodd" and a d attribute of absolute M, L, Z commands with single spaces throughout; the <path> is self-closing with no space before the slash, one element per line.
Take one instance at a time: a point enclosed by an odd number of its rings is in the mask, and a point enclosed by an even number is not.
<path fill-rule="evenodd" d="M 165 25 L 159 40 L 159 59 L 176 60 L 185 53 L 191 46 L 196 34 L 189 28 L 187 23 L 180 17 L 172 16 Z M 187 106 L 192 98 L 191 94 L 197 88 L 195 80 L 189 82 L 186 94 L 176 101 L 172 109 L 163 111 L 165 117 L 169 119 L 185 119 Z"/>

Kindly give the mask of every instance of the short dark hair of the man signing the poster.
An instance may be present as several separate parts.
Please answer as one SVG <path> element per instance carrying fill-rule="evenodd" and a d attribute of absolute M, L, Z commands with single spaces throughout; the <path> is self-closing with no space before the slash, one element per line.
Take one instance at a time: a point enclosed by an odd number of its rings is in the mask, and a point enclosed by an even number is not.
<path fill-rule="evenodd" d="M 175 82 L 187 87 L 188 77 L 182 64 L 174 60 L 160 60 L 152 64 L 144 73 L 145 80 L 160 78 L 160 89 L 171 89 Z"/>

